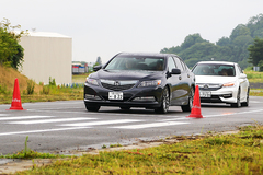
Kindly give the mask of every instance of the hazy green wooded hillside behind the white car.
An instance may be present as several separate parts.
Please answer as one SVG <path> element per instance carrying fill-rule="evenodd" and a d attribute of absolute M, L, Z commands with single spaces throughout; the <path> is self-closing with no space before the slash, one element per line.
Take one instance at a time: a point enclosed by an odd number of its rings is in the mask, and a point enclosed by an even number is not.
<path fill-rule="evenodd" d="M 181 46 L 163 48 L 160 52 L 176 54 L 188 67 L 214 58 L 217 61 L 238 62 L 244 69 L 252 66 L 250 63 L 258 66 L 260 62 L 252 61 L 248 48 L 254 44 L 254 39 L 261 40 L 261 38 L 263 38 L 263 14 L 251 18 L 245 25 L 239 24 L 229 37 L 221 37 L 216 44 L 203 39 L 197 33 L 186 36 Z M 263 65 L 263 58 L 261 59 Z"/>

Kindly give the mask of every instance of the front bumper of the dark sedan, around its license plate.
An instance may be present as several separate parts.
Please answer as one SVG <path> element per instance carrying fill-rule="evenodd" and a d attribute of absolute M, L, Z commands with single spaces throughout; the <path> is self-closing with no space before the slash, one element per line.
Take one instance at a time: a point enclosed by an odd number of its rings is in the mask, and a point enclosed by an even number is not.
<path fill-rule="evenodd" d="M 84 103 L 90 106 L 119 106 L 119 107 L 145 107 L 158 108 L 161 106 L 163 88 L 133 88 L 123 90 L 123 100 L 108 100 L 107 90 L 101 86 L 84 85 Z"/>

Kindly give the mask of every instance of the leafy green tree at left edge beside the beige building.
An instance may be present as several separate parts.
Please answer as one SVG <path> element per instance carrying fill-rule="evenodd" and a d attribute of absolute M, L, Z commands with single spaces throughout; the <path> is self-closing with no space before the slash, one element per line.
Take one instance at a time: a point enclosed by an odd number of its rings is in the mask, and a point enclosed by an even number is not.
<path fill-rule="evenodd" d="M 11 26 L 8 19 L 0 22 L 0 65 L 18 69 L 22 65 L 24 49 L 19 44 L 24 32 L 15 33 L 13 30 L 20 25 Z"/>

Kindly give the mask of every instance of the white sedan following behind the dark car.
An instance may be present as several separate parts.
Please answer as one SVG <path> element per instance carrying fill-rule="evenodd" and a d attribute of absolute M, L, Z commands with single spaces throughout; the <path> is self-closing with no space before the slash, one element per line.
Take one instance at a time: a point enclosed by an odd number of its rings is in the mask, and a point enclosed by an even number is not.
<path fill-rule="evenodd" d="M 192 71 L 199 86 L 201 103 L 227 103 L 249 106 L 249 80 L 236 62 L 201 61 Z"/>

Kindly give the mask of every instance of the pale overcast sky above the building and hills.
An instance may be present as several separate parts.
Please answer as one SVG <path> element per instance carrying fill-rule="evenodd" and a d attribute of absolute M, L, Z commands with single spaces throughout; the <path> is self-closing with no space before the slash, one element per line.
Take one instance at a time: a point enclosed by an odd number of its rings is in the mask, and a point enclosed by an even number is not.
<path fill-rule="evenodd" d="M 0 0 L 0 20 L 72 37 L 72 60 L 159 52 L 199 33 L 216 43 L 263 13 L 263 0 Z"/>

